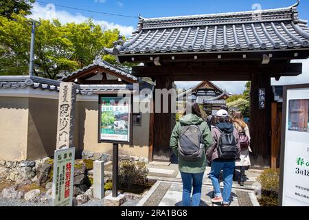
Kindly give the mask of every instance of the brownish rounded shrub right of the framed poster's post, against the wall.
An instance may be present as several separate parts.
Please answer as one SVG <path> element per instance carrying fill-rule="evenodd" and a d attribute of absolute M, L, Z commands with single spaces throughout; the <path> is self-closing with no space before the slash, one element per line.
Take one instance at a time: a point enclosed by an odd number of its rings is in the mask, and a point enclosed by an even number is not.
<path fill-rule="evenodd" d="M 123 160 L 119 164 L 119 184 L 123 188 L 132 188 L 133 185 L 147 184 L 149 173 L 145 162 L 130 162 Z"/>

